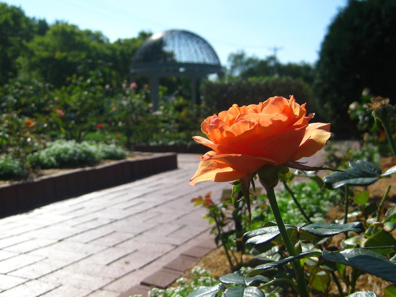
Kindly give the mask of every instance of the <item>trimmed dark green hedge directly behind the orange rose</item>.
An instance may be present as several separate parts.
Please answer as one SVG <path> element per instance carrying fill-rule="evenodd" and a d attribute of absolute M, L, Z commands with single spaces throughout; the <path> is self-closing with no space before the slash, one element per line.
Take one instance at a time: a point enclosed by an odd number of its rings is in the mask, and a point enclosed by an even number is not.
<path fill-rule="evenodd" d="M 309 86 L 301 80 L 289 77 L 230 78 L 221 81 L 207 81 L 204 84 L 205 105 L 214 113 L 228 110 L 233 104 L 249 105 L 263 102 L 270 97 L 294 95 L 297 102 L 315 109 Z M 308 110 L 309 112 L 309 110 Z"/>

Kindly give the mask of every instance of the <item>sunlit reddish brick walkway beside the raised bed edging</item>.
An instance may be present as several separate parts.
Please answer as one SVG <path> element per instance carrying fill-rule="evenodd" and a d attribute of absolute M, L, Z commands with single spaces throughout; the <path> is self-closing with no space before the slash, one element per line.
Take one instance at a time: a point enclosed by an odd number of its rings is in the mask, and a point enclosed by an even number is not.
<path fill-rule="evenodd" d="M 178 169 L 0 219 L 0 297 L 128 297 L 145 293 L 142 284 L 166 286 L 215 247 L 205 210 L 190 200 L 230 185 L 190 186 L 198 161 L 179 154 Z"/>

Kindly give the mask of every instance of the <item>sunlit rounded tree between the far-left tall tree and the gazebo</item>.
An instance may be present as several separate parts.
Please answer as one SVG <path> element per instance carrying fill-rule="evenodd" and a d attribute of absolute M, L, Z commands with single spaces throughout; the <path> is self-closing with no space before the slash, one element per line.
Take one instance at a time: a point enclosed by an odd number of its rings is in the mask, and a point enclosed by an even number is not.
<path fill-rule="evenodd" d="M 36 35 L 28 44 L 28 67 L 56 87 L 70 83 L 75 76 L 89 75 L 109 67 L 109 40 L 101 32 L 80 30 L 76 25 L 56 22 L 45 35 Z M 103 74 L 109 71 L 103 70 Z"/>

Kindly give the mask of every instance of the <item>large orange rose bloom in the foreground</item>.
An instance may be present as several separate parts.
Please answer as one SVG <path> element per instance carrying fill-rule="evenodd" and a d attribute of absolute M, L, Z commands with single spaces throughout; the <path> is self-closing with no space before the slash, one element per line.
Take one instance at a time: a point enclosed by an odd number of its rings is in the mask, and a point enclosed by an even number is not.
<path fill-rule="evenodd" d="M 190 185 L 199 181 L 234 181 L 254 173 L 264 165 L 280 165 L 309 157 L 330 137 L 330 124 L 308 124 L 305 103 L 293 96 L 271 97 L 259 105 L 234 104 L 218 116 L 202 122 L 209 138 L 193 139 L 212 150 L 203 157 Z"/>

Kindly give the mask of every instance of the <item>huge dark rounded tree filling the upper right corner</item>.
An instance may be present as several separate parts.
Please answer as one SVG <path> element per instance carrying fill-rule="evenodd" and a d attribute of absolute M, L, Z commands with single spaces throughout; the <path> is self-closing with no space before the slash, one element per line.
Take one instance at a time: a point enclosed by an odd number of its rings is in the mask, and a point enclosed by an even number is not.
<path fill-rule="evenodd" d="M 348 106 L 364 88 L 394 97 L 394 32 L 394 0 L 349 0 L 329 26 L 316 65 L 315 93 L 336 131 L 345 130 Z"/>

